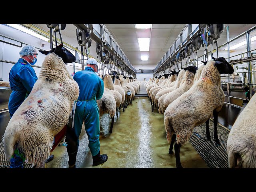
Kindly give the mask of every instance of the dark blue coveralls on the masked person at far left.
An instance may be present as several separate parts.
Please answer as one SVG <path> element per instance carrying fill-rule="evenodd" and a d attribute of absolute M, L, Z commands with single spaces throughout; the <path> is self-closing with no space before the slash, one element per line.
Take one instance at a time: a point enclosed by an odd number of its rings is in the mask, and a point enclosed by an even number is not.
<path fill-rule="evenodd" d="M 12 66 L 9 73 L 9 82 L 12 93 L 10 94 L 8 103 L 11 118 L 31 92 L 36 80 L 37 76 L 35 70 L 23 58 L 20 58 L 18 62 Z"/>

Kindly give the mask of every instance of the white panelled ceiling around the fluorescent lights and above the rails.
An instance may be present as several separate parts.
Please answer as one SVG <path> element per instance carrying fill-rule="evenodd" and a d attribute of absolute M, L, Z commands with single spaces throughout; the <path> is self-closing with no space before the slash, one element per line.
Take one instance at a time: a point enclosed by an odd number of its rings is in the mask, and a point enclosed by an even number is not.
<path fill-rule="evenodd" d="M 45 30 L 46 32 L 49 31 L 49 28 L 46 26 L 46 24 L 34 25 Z M 166 54 L 166 52 L 169 50 L 170 46 L 172 46 L 182 29 L 186 26 L 186 24 L 152 24 L 151 29 L 136 29 L 135 24 L 104 25 L 136 70 L 154 69 L 164 54 Z M 231 40 L 232 38 L 238 36 L 242 32 L 245 32 L 255 25 L 256 24 L 225 24 L 225 28 L 226 26 L 229 26 L 229 38 Z M 80 48 L 76 37 L 76 26 L 73 24 L 67 24 L 65 30 L 61 31 L 61 35 L 64 42 L 74 47 Z M 151 38 L 150 49 L 148 53 L 149 59 L 148 61 L 142 61 L 140 56 L 145 54 L 145 52 L 140 51 L 137 38 L 144 38 L 148 36 Z M 218 46 L 226 42 L 226 30 L 224 30 L 218 39 Z M 95 48 L 96 43 L 92 41 L 92 46 L 90 47 L 90 55 L 94 57 L 97 56 Z M 211 49 L 211 46 L 208 46 L 208 50 L 209 49 Z M 219 50 L 219 52 L 220 51 L 221 50 Z M 198 56 L 203 54 L 204 48 L 201 47 L 198 51 Z"/>

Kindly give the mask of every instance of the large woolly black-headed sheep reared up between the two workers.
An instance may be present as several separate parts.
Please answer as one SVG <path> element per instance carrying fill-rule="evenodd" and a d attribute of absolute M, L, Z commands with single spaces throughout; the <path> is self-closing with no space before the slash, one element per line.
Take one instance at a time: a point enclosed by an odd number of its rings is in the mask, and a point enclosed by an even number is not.
<path fill-rule="evenodd" d="M 3 138 L 7 159 L 18 150 L 36 168 L 44 167 L 54 135 L 68 123 L 79 95 L 78 84 L 65 66 L 74 62 L 75 56 L 62 44 L 51 51 L 40 52 L 47 55 L 38 80 L 13 114 Z"/>

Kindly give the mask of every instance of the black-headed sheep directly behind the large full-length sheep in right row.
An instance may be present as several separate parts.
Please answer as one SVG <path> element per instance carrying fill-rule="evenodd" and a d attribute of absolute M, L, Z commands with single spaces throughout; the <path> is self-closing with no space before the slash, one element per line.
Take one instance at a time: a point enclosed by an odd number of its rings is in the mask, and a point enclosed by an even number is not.
<path fill-rule="evenodd" d="M 198 68 L 196 66 L 188 66 L 184 68 L 184 70 L 186 70 L 184 74 L 184 83 L 180 85 L 180 87 L 166 95 L 162 105 L 163 112 L 166 110 L 166 108 L 171 102 L 173 102 L 176 98 L 184 94 L 193 85 L 196 70 L 198 70 Z"/>

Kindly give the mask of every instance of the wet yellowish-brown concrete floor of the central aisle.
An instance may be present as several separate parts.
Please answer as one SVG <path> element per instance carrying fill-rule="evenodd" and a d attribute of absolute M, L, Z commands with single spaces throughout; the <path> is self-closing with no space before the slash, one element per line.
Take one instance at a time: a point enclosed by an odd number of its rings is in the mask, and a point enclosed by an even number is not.
<path fill-rule="evenodd" d="M 144 88 L 143 86 L 141 87 Z M 100 153 L 107 154 L 104 164 L 92 167 L 92 155 L 88 137 L 82 128 L 76 158 L 77 168 L 176 168 L 174 154 L 168 154 L 170 144 L 166 140 L 164 116 L 151 112 L 147 97 L 135 97 L 126 111 L 115 116 L 113 132 L 108 133 L 108 114 L 100 117 Z M 52 152 L 54 159 L 46 168 L 68 168 L 66 146 L 58 146 Z M 180 160 L 184 168 L 208 168 L 190 142 L 180 148 Z"/>

